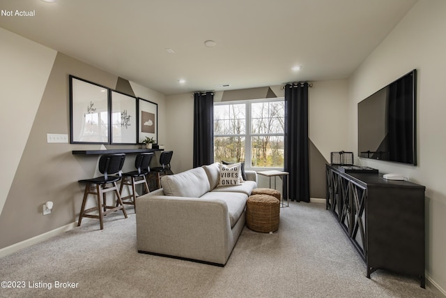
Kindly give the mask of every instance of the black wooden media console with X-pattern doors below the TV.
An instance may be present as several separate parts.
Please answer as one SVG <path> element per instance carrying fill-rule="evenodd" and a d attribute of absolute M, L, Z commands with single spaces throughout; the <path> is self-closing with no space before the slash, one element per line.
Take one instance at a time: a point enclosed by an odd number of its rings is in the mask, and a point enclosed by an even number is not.
<path fill-rule="evenodd" d="M 376 173 L 346 173 L 326 166 L 326 207 L 337 218 L 367 266 L 367 277 L 387 269 L 424 275 L 424 191 Z"/>

